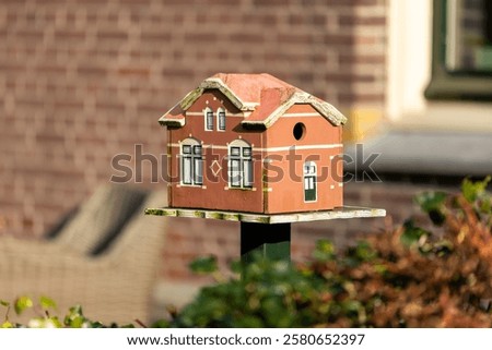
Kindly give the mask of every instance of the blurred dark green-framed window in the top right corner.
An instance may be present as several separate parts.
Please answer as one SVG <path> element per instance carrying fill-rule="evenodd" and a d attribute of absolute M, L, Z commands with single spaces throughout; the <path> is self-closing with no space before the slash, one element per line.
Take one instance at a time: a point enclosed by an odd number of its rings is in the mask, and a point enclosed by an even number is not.
<path fill-rule="evenodd" d="M 425 96 L 492 99 L 492 2 L 436 0 L 432 80 Z"/>

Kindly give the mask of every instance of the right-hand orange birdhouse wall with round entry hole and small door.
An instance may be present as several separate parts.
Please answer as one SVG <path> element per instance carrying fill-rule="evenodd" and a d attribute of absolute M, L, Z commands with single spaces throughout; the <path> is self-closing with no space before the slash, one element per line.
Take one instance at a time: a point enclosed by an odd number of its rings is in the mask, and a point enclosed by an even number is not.
<path fill-rule="evenodd" d="M 263 133 L 263 144 L 269 159 L 263 170 L 265 213 L 343 205 L 341 126 L 311 105 L 294 105 Z"/>

